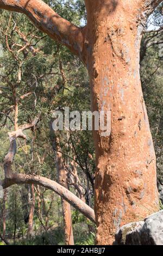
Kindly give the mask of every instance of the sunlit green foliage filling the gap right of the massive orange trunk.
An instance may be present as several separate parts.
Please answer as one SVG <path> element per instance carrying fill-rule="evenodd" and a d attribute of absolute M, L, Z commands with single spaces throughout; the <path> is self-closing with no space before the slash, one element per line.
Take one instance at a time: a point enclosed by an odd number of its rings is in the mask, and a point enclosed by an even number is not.
<path fill-rule="evenodd" d="M 161 21 L 160 21 L 161 22 Z M 147 33 L 142 39 L 141 56 L 143 56 L 143 45 L 148 38 L 153 38 L 156 33 Z M 161 37 L 161 34 L 160 34 Z M 155 37 L 154 37 L 155 38 Z M 156 37 L 157 38 L 157 37 Z M 156 39 L 155 38 L 155 39 Z M 151 39 L 152 40 L 152 39 Z M 141 82 L 142 90 L 147 106 L 149 123 L 153 136 L 155 147 L 158 178 L 162 180 L 163 167 L 163 74 L 162 74 L 162 57 L 159 56 L 159 45 L 152 44 L 144 52 L 141 60 Z"/>

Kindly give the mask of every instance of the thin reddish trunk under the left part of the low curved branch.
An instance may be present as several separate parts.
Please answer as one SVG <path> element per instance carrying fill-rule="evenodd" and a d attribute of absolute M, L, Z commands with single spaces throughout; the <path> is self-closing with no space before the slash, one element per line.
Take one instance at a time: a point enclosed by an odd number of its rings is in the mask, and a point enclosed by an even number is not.
<path fill-rule="evenodd" d="M 31 185 L 31 194 L 32 194 L 32 203 L 31 203 L 31 206 L 30 206 L 28 231 L 27 231 L 27 236 L 29 238 L 34 236 L 34 233 L 33 233 L 33 217 L 34 217 L 34 210 L 35 210 L 35 190 L 34 190 L 34 184 Z"/>

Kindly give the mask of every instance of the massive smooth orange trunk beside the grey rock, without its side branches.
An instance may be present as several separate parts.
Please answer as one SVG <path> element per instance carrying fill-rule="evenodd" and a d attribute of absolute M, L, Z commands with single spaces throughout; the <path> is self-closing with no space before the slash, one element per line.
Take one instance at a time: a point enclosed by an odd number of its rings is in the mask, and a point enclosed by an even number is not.
<path fill-rule="evenodd" d="M 98 245 L 118 227 L 158 211 L 156 160 L 140 82 L 141 7 L 87 1 L 86 42 L 92 111 L 111 111 L 111 133 L 93 131 Z M 85 42 L 85 43 L 86 43 Z"/>

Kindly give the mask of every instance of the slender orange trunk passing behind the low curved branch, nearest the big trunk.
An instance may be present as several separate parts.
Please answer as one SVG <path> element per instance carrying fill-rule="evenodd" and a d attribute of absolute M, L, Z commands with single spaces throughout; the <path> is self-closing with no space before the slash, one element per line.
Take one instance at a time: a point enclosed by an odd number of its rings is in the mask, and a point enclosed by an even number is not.
<path fill-rule="evenodd" d="M 67 174 L 64 168 L 64 163 L 62 160 L 62 154 L 60 153 L 60 145 L 58 137 L 54 136 L 54 144 L 55 144 L 55 160 L 57 165 L 57 172 L 58 172 L 58 182 L 65 188 L 67 186 Z M 66 200 L 61 198 L 62 204 L 62 215 L 64 218 L 64 231 L 65 231 L 65 244 L 66 245 L 74 245 L 73 240 L 73 229 L 72 229 L 72 220 L 71 220 L 71 207 Z"/>

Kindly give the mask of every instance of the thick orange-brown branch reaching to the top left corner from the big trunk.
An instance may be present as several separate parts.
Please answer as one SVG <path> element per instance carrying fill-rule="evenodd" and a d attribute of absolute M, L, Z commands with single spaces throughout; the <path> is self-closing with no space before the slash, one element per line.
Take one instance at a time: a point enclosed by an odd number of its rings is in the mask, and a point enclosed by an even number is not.
<path fill-rule="evenodd" d="M 82 59 L 83 29 L 60 17 L 41 0 L 0 0 L 0 9 L 26 14 L 40 31 L 67 46 Z"/>

